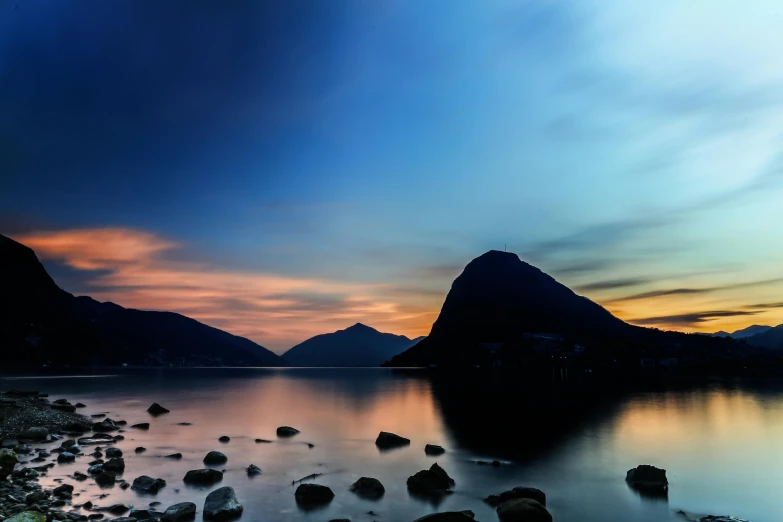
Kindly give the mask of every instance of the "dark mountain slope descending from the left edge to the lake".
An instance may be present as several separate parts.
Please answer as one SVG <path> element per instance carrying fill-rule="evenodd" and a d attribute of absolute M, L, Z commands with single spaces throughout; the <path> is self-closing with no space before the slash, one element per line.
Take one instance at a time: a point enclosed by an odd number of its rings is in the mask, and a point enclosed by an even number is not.
<path fill-rule="evenodd" d="M 256 343 L 172 312 L 75 297 L 0 235 L 0 351 L 17 364 L 286 366 Z"/>

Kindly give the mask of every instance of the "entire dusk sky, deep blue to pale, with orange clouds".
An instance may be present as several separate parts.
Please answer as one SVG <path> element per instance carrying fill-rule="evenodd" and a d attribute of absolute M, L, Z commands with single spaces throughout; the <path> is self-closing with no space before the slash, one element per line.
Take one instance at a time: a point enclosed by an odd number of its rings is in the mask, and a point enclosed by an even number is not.
<path fill-rule="evenodd" d="M 0 233 L 281 352 L 507 248 L 634 324 L 783 323 L 783 3 L 0 0 Z"/>

